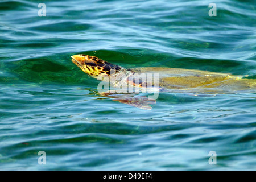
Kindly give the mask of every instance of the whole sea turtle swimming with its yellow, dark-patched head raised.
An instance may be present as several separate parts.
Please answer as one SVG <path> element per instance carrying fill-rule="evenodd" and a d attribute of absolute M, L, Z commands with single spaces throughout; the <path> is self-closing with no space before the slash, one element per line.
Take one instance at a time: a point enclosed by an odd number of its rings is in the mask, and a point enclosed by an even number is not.
<path fill-rule="evenodd" d="M 97 76 L 125 76 L 114 85 L 125 82 L 127 85 L 132 85 L 135 88 L 143 88 L 147 86 L 147 82 L 134 81 L 137 79 L 136 73 L 158 73 L 158 86 L 151 88 L 154 90 L 165 92 L 184 92 L 192 93 L 195 96 L 198 94 L 225 94 L 225 93 L 240 93 L 250 92 L 255 93 L 256 81 L 253 79 L 242 79 L 242 76 L 233 76 L 226 73 L 214 73 L 208 71 L 200 71 L 194 69 L 180 68 L 133 68 L 126 69 L 121 66 L 108 63 L 95 56 L 88 55 L 73 55 L 72 62 L 77 65 L 82 71 L 88 75 L 97 78 Z M 133 80 L 129 78 L 133 77 Z M 138 77 L 138 79 L 141 79 Z M 101 93 L 104 96 L 112 97 L 113 100 L 129 104 L 141 109 L 151 109 L 148 104 L 155 104 L 155 100 L 148 100 L 144 96 L 134 96 L 134 94 L 110 94 L 108 92 Z"/>

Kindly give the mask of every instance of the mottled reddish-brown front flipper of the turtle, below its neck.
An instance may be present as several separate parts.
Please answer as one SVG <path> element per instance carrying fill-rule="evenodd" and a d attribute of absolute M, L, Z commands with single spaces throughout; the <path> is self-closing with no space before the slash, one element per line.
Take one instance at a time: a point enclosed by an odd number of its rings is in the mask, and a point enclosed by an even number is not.
<path fill-rule="evenodd" d="M 102 92 L 101 96 L 107 96 L 112 98 L 113 101 L 118 101 L 123 104 L 127 104 L 139 109 L 151 110 L 150 105 L 156 104 L 156 100 L 148 99 L 146 96 L 140 96 L 135 94 L 116 94 L 110 92 Z"/>

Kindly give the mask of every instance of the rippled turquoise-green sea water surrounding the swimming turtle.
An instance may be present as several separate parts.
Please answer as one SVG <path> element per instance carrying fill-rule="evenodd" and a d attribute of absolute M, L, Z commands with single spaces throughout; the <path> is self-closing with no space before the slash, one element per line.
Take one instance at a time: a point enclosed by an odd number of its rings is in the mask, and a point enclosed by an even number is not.
<path fill-rule="evenodd" d="M 160 93 L 141 110 L 99 96 L 70 57 L 255 79 L 255 1 L 214 1 L 216 17 L 212 1 L 48 0 L 46 17 L 40 2 L 0 2 L 1 170 L 256 169 L 255 93 Z"/>

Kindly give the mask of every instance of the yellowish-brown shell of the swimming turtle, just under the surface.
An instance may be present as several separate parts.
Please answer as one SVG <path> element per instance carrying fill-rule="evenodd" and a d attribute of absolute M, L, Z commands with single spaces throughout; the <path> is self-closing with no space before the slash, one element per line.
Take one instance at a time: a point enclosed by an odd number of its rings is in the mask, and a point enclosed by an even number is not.
<path fill-rule="evenodd" d="M 134 68 L 135 73 L 159 73 L 159 86 L 172 92 L 189 90 L 196 93 L 255 92 L 256 81 L 227 73 L 181 68 Z"/>

